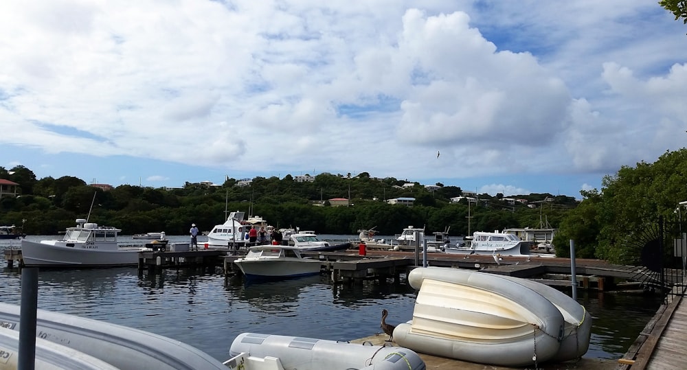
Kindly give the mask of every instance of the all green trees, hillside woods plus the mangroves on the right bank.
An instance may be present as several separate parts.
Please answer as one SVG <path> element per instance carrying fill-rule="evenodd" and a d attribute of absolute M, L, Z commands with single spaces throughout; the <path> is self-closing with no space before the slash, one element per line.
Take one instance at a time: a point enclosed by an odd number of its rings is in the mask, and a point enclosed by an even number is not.
<path fill-rule="evenodd" d="M 552 194 L 513 197 L 536 204 L 535 208 L 510 204 L 503 194 L 479 194 L 474 202 L 464 198 L 452 203 L 451 198 L 462 195 L 460 187 L 442 186 L 431 192 L 419 183 L 401 187 L 408 181 L 373 178 L 366 172 L 357 176 L 324 173 L 304 183 L 287 175 L 256 177 L 243 187 L 227 178 L 221 186 L 120 185 L 106 192 L 73 176 L 38 180 L 22 166 L 10 172 L 0 167 L 0 178 L 19 183 L 21 196 L 0 198 L 0 224 L 23 223 L 25 233 L 36 235 L 55 235 L 74 225 L 76 218 L 86 217 L 122 229 L 123 234 L 184 235 L 192 223 L 210 231 L 224 222 L 226 211 L 244 211 L 262 216 L 275 227 L 331 234 L 357 234 L 374 227 L 381 235 L 394 235 L 409 225 L 425 227 L 427 233 L 448 229 L 450 235 L 550 226 L 558 229 L 554 245 L 559 256 L 569 255 L 568 245 L 574 240 L 577 257 L 639 264 L 647 229 L 655 227 L 659 218 L 682 222 L 682 213 L 687 218 L 687 209 L 679 205 L 687 200 L 685 148 L 667 151 L 654 163 L 621 167 L 602 178 L 602 189 L 582 191 L 581 202 Z M 415 198 L 415 205 L 385 202 L 398 197 Z M 328 204 L 330 198 L 348 198 L 352 205 L 333 207 Z M 670 240 L 665 242 L 672 245 Z"/>

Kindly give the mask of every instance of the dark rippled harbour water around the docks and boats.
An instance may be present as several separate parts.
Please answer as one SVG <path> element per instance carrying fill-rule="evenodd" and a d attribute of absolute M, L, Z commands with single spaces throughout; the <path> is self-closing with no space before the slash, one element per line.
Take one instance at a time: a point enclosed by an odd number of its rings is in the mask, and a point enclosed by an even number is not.
<path fill-rule="evenodd" d="M 188 242 L 186 236 L 168 238 Z M 145 241 L 125 237 L 120 242 Z M 18 247 L 18 240 L 0 240 L 0 249 Z M 0 264 L 7 266 L 4 256 Z M 3 302 L 21 301 L 20 275 L 16 268 L 3 268 Z M 38 275 L 38 308 L 168 336 L 218 360 L 229 357 L 232 341 L 243 332 L 328 340 L 370 336 L 381 332 L 383 308 L 390 311 L 390 323 L 411 319 L 415 297 L 405 281 L 337 287 L 328 277 L 315 276 L 246 286 L 240 277 L 225 278 L 221 268 L 165 270 L 161 275 L 148 270 L 139 275 L 137 268 L 41 270 Z M 611 360 L 622 357 L 662 303 L 654 296 L 595 291 L 578 291 L 578 301 L 594 319 L 585 358 Z"/>

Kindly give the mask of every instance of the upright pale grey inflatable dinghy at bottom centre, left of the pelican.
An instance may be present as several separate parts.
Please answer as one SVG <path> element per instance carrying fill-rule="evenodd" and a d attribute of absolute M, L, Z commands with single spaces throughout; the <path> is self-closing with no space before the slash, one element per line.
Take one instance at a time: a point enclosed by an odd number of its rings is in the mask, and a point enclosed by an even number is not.
<path fill-rule="evenodd" d="M 425 370 L 414 351 L 334 340 L 243 333 L 225 362 L 231 370 Z"/>

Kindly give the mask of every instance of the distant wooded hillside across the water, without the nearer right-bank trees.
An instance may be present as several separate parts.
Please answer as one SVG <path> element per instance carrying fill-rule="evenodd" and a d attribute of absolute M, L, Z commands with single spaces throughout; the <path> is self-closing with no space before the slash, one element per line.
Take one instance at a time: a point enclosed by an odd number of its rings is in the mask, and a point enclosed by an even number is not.
<path fill-rule="evenodd" d="M 10 172 L 0 167 L 0 178 L 19 183 L 21 196 L 0 199 L 0 222 L 23 223 L 24 232 L 35 235 L 54 235 L 73 226 L 76 218 L 117 227 L 123 234 L 165 231 L 183 235 L 191 223 L 210 231 L 225 221 L 225 211 L 244 211 L 262 216 L 275 227 L 318 233 L 357 234 L 360 229 L 374 228 L 381 235 L 394 235 L 413 225 L 424 226 L 429 233 L 448 229 L 451 235 L 467 235 L 469 231 L 539 227 L 542 220 L 559 224 L 577 204 L 572 197 L 551 194 L 517 196 L 543 205 L 541 209 L 510 205 L 503 194 L 480 194 L 471 203 L 466 199 L 451 203 L 451 198 L 462 195 L 460 187 L 442 186 L 431 192 L 419 183 L 401 187 L 408 181 L 372 178 L 366 172 L 357 176 L 324 173 L 303 183 L 286 175 L 256 177 L 249 186 L 238 186 L 236 179 L 227 178 L 221 186 L 185 183 L 177 189 L 164 189 L 120 185 L 109 191 L 74 176 L 36 179 L 22 166 Z M 398 197 L 415 198 L 414 207 L 385 201 Z M 330 198 L 349 198 L 352 205 L 333 207 Z"/>

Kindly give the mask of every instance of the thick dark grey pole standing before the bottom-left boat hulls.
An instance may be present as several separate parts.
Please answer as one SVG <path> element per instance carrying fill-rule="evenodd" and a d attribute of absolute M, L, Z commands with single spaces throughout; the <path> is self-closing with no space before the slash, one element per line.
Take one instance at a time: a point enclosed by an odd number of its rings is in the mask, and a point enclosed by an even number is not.
<path fill-rule="evenodd" d="M 38 310 L 38 268 L 21 269 L 21 307 L 19 308 L 19 359 L 17 369 L 36 368 L 36 316 Z"/>

